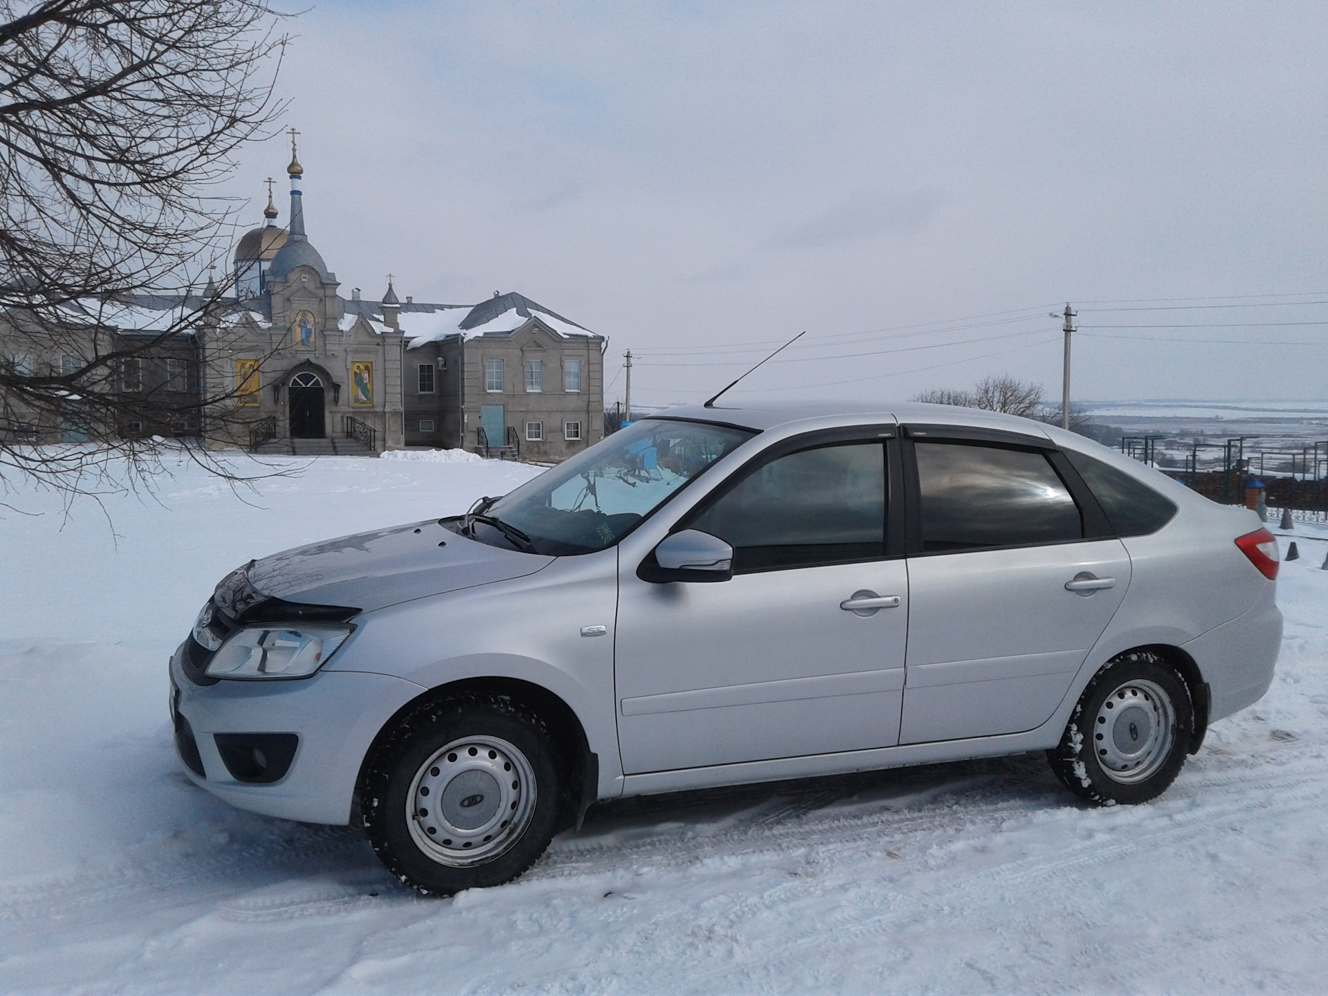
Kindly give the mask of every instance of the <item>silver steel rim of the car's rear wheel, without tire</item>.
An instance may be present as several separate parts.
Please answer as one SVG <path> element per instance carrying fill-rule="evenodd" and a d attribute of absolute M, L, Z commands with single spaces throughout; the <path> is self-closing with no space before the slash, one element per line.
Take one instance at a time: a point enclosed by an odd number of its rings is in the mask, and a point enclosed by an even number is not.
<path fill-rule="evenodd" d="M 1093 749 L 1108 778 L 1133 785 L 1166 761 L 1175 741 L 1171 697 L 1151 681 L 1126 681 L 1093 721 Z"/>

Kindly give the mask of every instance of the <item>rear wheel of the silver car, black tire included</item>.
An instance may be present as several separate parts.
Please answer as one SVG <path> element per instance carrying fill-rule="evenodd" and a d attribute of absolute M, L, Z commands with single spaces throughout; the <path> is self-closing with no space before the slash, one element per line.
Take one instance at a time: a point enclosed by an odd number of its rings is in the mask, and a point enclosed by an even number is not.
<path fill-rule="evenodd" d="M 1185 681 L 1162 657 L 1135 651 L 1089 683 L 1046 757 L 1076 795 L 1105 806 L 1147 802 L 1175 781 L 1193 734 Z"/>

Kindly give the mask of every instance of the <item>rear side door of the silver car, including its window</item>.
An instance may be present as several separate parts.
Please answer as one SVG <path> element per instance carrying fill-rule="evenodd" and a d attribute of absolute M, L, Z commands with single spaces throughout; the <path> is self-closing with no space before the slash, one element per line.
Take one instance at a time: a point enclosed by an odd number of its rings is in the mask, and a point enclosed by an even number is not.
<path fill-rule="evenodd" d="M 1130 580 L 1130 559 L 1048 441 L 910 426 L 902 744 L 1045 722 Z"/>

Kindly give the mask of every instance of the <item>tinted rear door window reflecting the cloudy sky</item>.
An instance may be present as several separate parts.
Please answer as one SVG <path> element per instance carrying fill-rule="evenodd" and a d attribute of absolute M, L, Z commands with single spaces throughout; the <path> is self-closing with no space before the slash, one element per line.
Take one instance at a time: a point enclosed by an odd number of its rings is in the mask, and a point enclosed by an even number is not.
<path fill-rule="evenodd" d="M 922 551 L 1062 543 L 1084 519 L 1045 454 L 965 442 L 918 441 Z"/>

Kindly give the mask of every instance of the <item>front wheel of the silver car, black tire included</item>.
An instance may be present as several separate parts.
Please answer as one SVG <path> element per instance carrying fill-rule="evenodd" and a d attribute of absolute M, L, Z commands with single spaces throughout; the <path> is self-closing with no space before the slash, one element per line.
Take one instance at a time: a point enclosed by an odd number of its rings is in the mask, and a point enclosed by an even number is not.
<path fill-rule="evenodd" d="M 361 786 L 369 843 L 426 895 L 498 886 L 558 826 L 560 765 L 539 718 L 499 696 L 429 703 L 374 752 Z"/>

